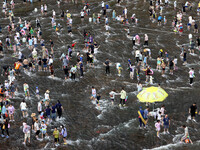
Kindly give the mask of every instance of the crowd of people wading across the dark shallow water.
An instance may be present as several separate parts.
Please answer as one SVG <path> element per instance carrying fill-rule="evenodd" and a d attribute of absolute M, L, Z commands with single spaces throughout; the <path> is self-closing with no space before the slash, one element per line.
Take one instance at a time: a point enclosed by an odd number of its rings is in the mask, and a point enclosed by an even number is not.
<path fill-rule="evenodd" d="M 42 0 L 39 0 L 42 2 Z M 125 1 L 125 0 L 124 0 Z M 24 0 L 24 5 L 31 5 L 33 0 Z M 57 6 L 55 10 L 49 10 L 48 3 L 41 3 L 40 11 L 38 8 L 35 8 L 35 13 L 40 13 L 44 18 L 47 18 L 47 13 L 52 13 L 51 19 L 48 19 L 51 23 L 52 32 L 55 32 L 58 36 L 61 34 L 63 28 L 66 28 L 68 35 L 73 35 L 74 20 L 73 13 L 69 10 L 61 10 L 60 4 L 63 2 L 71 2 L 70 0 L 62 1 L 57 0 Z M 72 1 L 74 4 L 77 4 L 77 0 Z M 125 1 L 126 2 L 126 1 Z M 123 0 L 118 0 L 116 5 L 120 6 L 123 3 Z M 127 34 L 128 39 L 131 39 L 131 44 L 134 51 L 134 58 L 130 57 L 127 63 L 127 69 L 123 69 L 122 64 L 118 62 L 111 62 L 109 58 L 105 58 L 103 65 L 105 66 L 105 74 L 109 76 L 112 74 L 110 67 L 113 63 L 117 63 L 116 69 L 119 77 L 123 78 L 123 73 L 128 72 L 131 81 L 137 82 L 137 91 L 140 92 L 143 89 L 142 78 L 145 77 L 145 85 L 154 85 L 154 72 L 157 71 L 162 77 L 165 77 L 166 74 L 173 76 L 178 67 L 181 65 L 178 63 L 178 57 L 172 56 L 171 52 L 165 50 L 164 48 L 158 48 L 155 68 L 150 66 L 152 64 L 152 51 L 151 43 L 149 40 L 150 35 L 148 34 L 138 34 L 132 33 L 130 31 L 130 25 L 137 26 L 140 18 L 136 17 L 136 14 L 130 14 L 127 7 L 123 8 L 123 11 L 117 14 L 117 11 L 109 11 L 109 2 L 101 2 L 100 12 L 93 12 L 91 10 L 91 5 L 89 2 L 82 0 L 83 9 L 78 10 L 80 14 L 80 20 L 82 23 L 93 23 L 94 25 L 101 25 L 104 32 L 107 35 L 110 35 L 111 31 L 111 22 L 118 22 L 122 25 L 127 26 L 123 29 Z M 144 4 L 148 5 L 149 20 L 152 24 L 157 26 L 165 26 L 170 24 L 171 31 L 174 34 L 179 34 L 180 38 L 184 35 L 184 30 L 186 29 L 189 32 L 188 35 L 188 46 L 180 46 L 180 58 L 182 60 L 182 65 L 187 65 L 187 60 L 189 56 L 194 55 L 194 53 L 200 50 L 200 37 L 195 37 L 193 34 L 198 33 L 198 20 L 193 16 L 188 18 L 184 17 L 188 12 L 196 9 L 196 14 L 199 15 L 200 11 L 200 2 L 196 6 L 193 6 L 192 3 L 186 1 L 181 5 L 181 8 L 177 6 L 177 1 L 173 2 L 173 9 L 175 16 L 172 19 L 172 22 L 168 22 L 167 16 L 163 16 L 163 10 L 170 8 L 168 0 L 144 0 Z M 194 7 L 194 8 L 193 8 Z M 58 14 L 59 11 L 60 15 Z M 43 94 L 40 93 L 40 87 L 31 87 L 28 83 L 24 82 L 23 85 L 16 84 L 18 77 L 23 76 L 24 73 L 28 72 L 46 72 L 51 78 L 56 76 L 55 72 L 55 42 L 54 39 L 45 39 L 43 33 L 45 28 L 42 27 L 42 19 L 39 17 L 35 18 L 35 23 L 32 20 L 26 20 L 23 17 L 16 17 L 15 13 L 15 0 L 4 0 L 2 5 L 2 11 L 5 16 L 5 19 L 9 21 L 7 26 L 2 27 L 0 23 L 0 34 L 4 34 L 4 38 L 0 40 L 0 55 L 3 57 L 8 54 L 8 51 L 12 51 L 12 55 L 9 57 L 15 59 L 14 64 L 1 64 L 2 66 L 2 76 L 7 79 L 1 83 L 0 87 L 0 113 L 1 113 L 1 130 L 2 137 L 9 138 L 9 128 L 12 128 L 12 123 L 15 121 L 15 110 L 20 109 L 22 112 L 22 118 L 27 118 L 29 115 L 32 118 L 32 124 L 23 122 L 23 132 L 24 132 L 24 144 L 31 142 L 31 132 L 35 134 L 37 140 L 47 138 L 47 130 L 49 125 L 54 121 L 59 121 L 59 118 L 62 117 L 64 108 L 60 100 L 52 101 L 50 98 L 50 90 L 46 89 L 46 92 Z M 61 25 L 61 22 L 65 22 L 65 26 Z M 185 25 L 183 22 L 187 22 Z M 171 32 L 169 31 L 169 32 Z M 95 35 L 90 31 L 82 31 L 83 38 L 81 39 L 84 47 L 83 50 L 77 50 L 77 42 L 71 41 L 71 44 L 67 46 L 65 52 L 59 57 L 60 63 L 62 64 L 61 69 L 63 70 L 63 80 L 64 81 L 77 81 L 77 76 L 80 79 L 84 79 L 85 67 L 94 68 L 96 63 L 96 51 L 100 48 L 100 44 L 95 39 Z M 131 36 L 132 35 L 132 36 Z M 143 42 L 142 42 L 143 39 Z M 26 52 L 22 49 L 26 49 Z M 27 54 L 28 53 L 28 54 Z M 190 55 L 188 55 L 190 54 Z M 84 59 L 86 58 L 86 59 Z M 75 63 L 73 60 L 76 60 Z M 126 61 L 126 60 L 125 60 Z M 151 62 L 151 63 L 150 63 Z M 155 71 L 154 71 L 155 70 Z M 169 71 L 168 71 L 169 70 Z M 195 78 L 195 69 L 190 68 L 188 71 L 189 74 L 189 84 L 190 86 L 194 83 Z M 15 99 L 16 93 L 19 92 L 19 87 L 23 87 L 24 90 L 24 99 L 21 101 L 20 106 L 15 108 L 13 106 L 12 99 Z M 31 89 L 36 89 L 32 90 Z M 35 92 L 33 92 L 35 91 Z M 34 94 L 33 94 L 34 93 Z M 128 99 L 128 94 L 125 91 L 125 88 L 122 87 L 120 92 L 117 92 L 113 89 L 109 92 L 109 97 L 112 105 L 116 103 L 116 96 L 120 96 L 119 106 L 125 107 L 126 101 Z M 31 97 L 36 97 L 38 99 L 37 112 L 30 112 L 27 100 Z M 96 101 L 97 106 L 100 106 L 99 101 L 102 95 L 97 92 L 95 87 L 92 87 L 91 99 Z M 196 114 L 196 104 L 190 107 L 189 112 L 191 117 L 194 120 Z M 34 106 L 33 106 L 34 107 Z M 195 108 L 194 108 L 195 107 Z M 156 114 L 150 113 L 149 106 L 146 109 L 140 107 L 140 113 L 142 117 L 148 122 L 149 116 L 153 116 L 156 119 L 155 128 L 157 131 L 157 137 L 160 137 L 161 128 L 164 127 L 164 134 L 169 134 L 170 126 L 170 117 L 165 113 L 165 106 L 163 105 L 161 109 L 157 109 Z M 140 128 L 147 127 L 147 124 L 139 118 Z M 185 135 L 181 141 L 189 137 L 188 127 L 183 125 L 185 130 Z M 6 132 L 6 134 L 5 134 Z M 67 144 L 67 129 L 65 125 L 61 124 L 60 127 L 55 127 L 53 133 L 55 145 L 58 146 L 59 138 L 62 137 L 63 143 Z M 41 138 L 40 138 L 41 137 Z M 191 139 L 189 138 L 191 142 Z M 192 143 L 192 142 L 191 142 Z"/>

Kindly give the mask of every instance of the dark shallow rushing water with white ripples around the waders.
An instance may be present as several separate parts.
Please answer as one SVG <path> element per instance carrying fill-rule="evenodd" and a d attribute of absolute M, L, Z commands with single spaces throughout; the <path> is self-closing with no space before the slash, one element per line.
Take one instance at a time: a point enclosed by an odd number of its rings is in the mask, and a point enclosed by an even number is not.
<path fill-rule="evenodd" d="M 64 1 L 64 0 L 63 0 Z M 199 98 L 199 52 L 196 50 L 196 55 L 188 54 L 188 65 L 182 65 L 182 58 L 180 55 L 181 45 L 188 45 L 188 34 L 191 32 L 186 31 L 186 24 L 188 16 L 192 15 L 195 20 L 199 20 L 199 16 L 196 15 L 197 0 L 193 1 L 194 10 L 187 13 L 183 17 L 184 32 L 182 36 L 174 34 L 171 28 L 172 17 L 176 14 L 173 9 L 173 1 L 170 1 L 169 7 L 164 8 L 163 16 L 167 18 L 167 24 L 157 26 L 157 23 L 152 23 L 149 20 L 148 7 L 149 3 L 144 3 L 143 0 L 124 0 L 121 5 L 116 5 L 116 1 L 109 1 L 110 13 L 108 16 L 110 19 L 110 34 L 106 34 L 104 22 L 94 25 L 88 22 L 88 17 L 84 22 L 81 22 L 80 11 L 83 8 L 81 1 L 77 4 L 71 2 L 62 2 L 60 9 L 57 6 L 56 1 L 48 0 L 42 2 L 35 2 L 33 4 L 23 4 L 20 0 L 16 0 L 16 8 L 14 9 L 15 17 L 21 16 L 22 21 L 29 20 L 35 25 L 35 18 L 38 17 L 41 22 L 43 38 L 46 43 L 53 39 L 55 43 L 55 78 L 49 77 L 45 72 L 29 72 L 22 73 L 22 77 L 17 78 L 17 84 L 19 93 L 16 99 L 13 99 L 14 106 L 17 109 L 16 122 L 11 124 L 9 139 L 1 139 L 1 148 L 7 149 L 51 149 L 55 148 L 53 144 L 52 130 L 55 126 L 65 124 L 68 130 L 68 145 L 59 146 L 57 149 L 90 149 L 90 150 L 111 150 L 111 149 L 124 149 L 124 150 L 139 150 L 139 149 L 199 149 L 198 134 L 200 129 L 199 118 L 197 117 L 197 123 L 186 123 L 188 117 L 188 108 L 193 102 L 200 102 Z M 101 10 L 100 0 L 90 0 L 91 12 L 99 12 Z M 181 4 L 184 0 L 178 1 L 178 7 L 181 8 Z M 40 14 L 40 5 L 48 4 L 47 16 Z M 128 16 L 132 13 L 136 14 L 139 19 L 138 24 L 123 25 L 117 21 L 111 20 L 111 12 L 116 10 L 117 15 L 122 14 L 124 7 L 128 8 Z M 2 8 L 2 5 L 1 5 Z M 37 8 L 38 12 L 34 12 Z M 63 26 L 60 34 L 56 34 L 51 27 L 51 15 L 52 9 L 56 11 L 57 23 Z M 67 34 L 66 20 L 60 19 L 61 10 L 69 10 L 73 16 L 73 35 Z M 177 9 L 178 10 L 178 9 Z M 4 29 L 3 34 L 0 35 L 0 39 L 4 41 L 7 33 L 6 25 L 9 23 L 8 18 L 5 18 L 3 13 L 0 13 L 0 24 Z M 66 18 L 65 18 L 66 19 Z M 17 20 L 17 18 L 16 18 Z M 155 107 L 161 107 L 165 104 L 167 113 L 171 118 L 170 135 L 161 134 L 161 138 L 156 137 L 156 131 L 154 129 L 154 121 L 150 120 L 149 127 L 145 130 L 139 129 L 139 123 L 137 119 L 137 110 L 139 106 L 145 108 L 145 104 L 139 103 L 136 95 L 136 79 L 133 81 L 129 79 L 129 73 L 126 71 L 128 58 L 134 59 L 132 55 L 134 49 L 132 48 L 132 41 L 126 35 L 125 28 L 130 27 L 130 33 L 139 34 L 143 41 L 144 34 L 149 36 L 149 48 L 152 52 L 152 60 L 149 64 L 152 68 L 156 68 L 156 58 L 159 49 L 163 49 L 169 53 L 169 57 L 178 57 L 178 70 L 174 72 L 174 75 L 170 75 L 167 70 L 166 76 L 162 77 L 161 73 L 154 71 L 154 82 L 160 83 L 166 92 L 169 94 L 168 98 L 162 103 L 156 103 Z M 72 42 L 77 41 L 75 51 L 81 51 L 84 48 L 83 42 L 83 30 L 90 31 L 95 38 L 95 41 L 100 45 L 98 53 L 95 55 L 95 67 L 85 67 L 85 74 L 83 79 L 77 79 L 76 82 L 66 81 L 64 82 L 64 74 L 61 69 L 62 63 L 59 60 L 60 55 L 63 52 L 67 52 L 67 45 L 71 45 Z M 198 34 L 193 34 L 196 38 Z M 13 39 L 12 39 L 13 40 Z M 47 44 L 48 45 L 48 44 Z M 47 48 L 49 48 L 47 46 Z M 138 48 L 143 48 L 142 45 Z M 29 55 L 30 50 L 27 47 L 22 46 L 23 53 Z M 5 56 L 0 60 L 3 64 L 14 64 L 17 58 L 11 58 L 11 52 L 5 52 Z M 75 53 L 73 54 L 75 56 Z M 106 58 L 109 58 L 112 62 L 111 75 L 105 75 L 105 68 L 103 62 Z M 86 58 L 84 58 L 84 62 Z M 76 62 L 75 57 L 70 64 Z M 121 63 L 124 70 L 122 71 L 122 77 L 117 75 L 115 63 Z M 189 85 L 188 71 L 189 68 L 194 67 L 196 78 L 194 84 L 191 87 Z M 6 78 L 1 77 L 0 81 L 3 82 Z M 145 74 L 141 76 L 143 86 L 145 84 Z M 60 100 L 65 109 L 63 118 L 48 127 L 48 133 L 50 139 L 44 141 L 32 140 L 31 144 L 23 146 L 23 133 L 22 122 L 27 121 L 31 123 L 31 119 L 23 120 L 19 104 L 23 98 L 23 83 L 27 82 L 30 86 L 31 99 L 27 100 L 29 106 L 29 115 L 31 112 L 36 112 L 38 100 L 35 97 L 35 87 L 40 89 L 40 95 L 43 97 L 43 93 L 46 89 L 50 90 L 50 97 L 53 101 Z M 100 100 L 100 108 L 91 102 L 89 99 L 91 95 L 91 87 L 95 86 L 98 92 L 102 95 Z M 114 106 L 111 105 L 109 100 L 109 92 L 115 88 L 120 91 L 121 87 L 125 87 L 125 90 L 129 96 L 127 101 L 127 107 L 121 109 L 117 103 Z M 152 108 L 152 106 L 151 106 Z M 189 132 L 193 145 L 184 145 L 179 143 L 183 129 L 181 125 L 186 124 L 189 126 Z M 32 136 L 33 137 L 33 136 Z"/>

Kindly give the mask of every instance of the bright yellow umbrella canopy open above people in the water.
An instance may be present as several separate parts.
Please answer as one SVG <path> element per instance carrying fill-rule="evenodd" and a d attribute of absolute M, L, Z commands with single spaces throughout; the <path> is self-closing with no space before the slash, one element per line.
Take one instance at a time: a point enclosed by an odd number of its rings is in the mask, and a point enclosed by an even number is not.
<path fill-rule="evenodd" d="M 138 95 L 137 98 L 140 102 L 162 102 L 167 98 L 168 94 L 160 87 L 148 87 L 143 89 Z"/>

